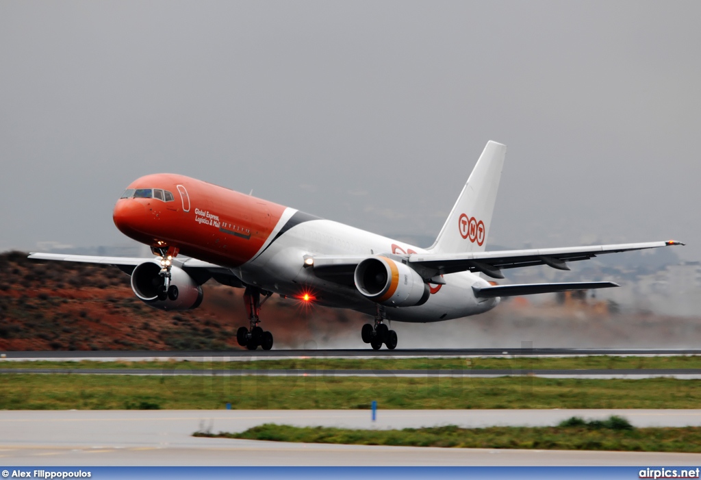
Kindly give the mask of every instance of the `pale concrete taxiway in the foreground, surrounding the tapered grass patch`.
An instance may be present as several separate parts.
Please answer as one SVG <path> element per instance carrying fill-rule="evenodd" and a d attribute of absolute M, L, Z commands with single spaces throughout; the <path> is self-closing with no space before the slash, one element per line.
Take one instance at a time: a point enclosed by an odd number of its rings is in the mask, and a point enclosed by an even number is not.
<path fill-rule="evenodd" d="M 701 454 L 287 444 L 192 437 L 262 423 L 353 428 L 555 425 L 611 415 L 701 425 L 701 410 L 0 411 L 4 465 L 701 465 Z"/>

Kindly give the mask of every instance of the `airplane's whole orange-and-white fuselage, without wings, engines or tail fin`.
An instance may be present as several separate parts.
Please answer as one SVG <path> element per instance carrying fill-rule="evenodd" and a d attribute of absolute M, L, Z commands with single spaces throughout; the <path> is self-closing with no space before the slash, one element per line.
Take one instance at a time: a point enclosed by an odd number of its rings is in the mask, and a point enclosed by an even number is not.
<path fill-rule="evenodd" d="M 177 247 L 180 254 L 228 268 L 245 284 L 325 306 L 373 315 L 377 304 L 353 285 L 314 275 L 305 256 L 405 255 L 425 250 L 290 207 L 176 174 L 153 174 L 132 182 L 114 207 L 114 223 L 151 247 Z M 483 313 L 498 299 L 476 299 L 472 286 L 486 287 L 470 272 L 429 284 L 420 306 L 385 308 L 389 320 L 437 322 Z"/>

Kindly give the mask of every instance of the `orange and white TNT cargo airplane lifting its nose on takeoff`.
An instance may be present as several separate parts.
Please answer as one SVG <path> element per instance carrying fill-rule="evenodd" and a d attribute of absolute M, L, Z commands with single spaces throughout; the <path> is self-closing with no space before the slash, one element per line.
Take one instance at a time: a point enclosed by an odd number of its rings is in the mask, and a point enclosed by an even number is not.
<path fill-rule="evenodd" d="M 114 206 L 116 227 L 151 247 L 154 257 L 32 253 L 30 259 L 103 263 L 131 277 L 137 298 L 154 308 L 188 310 L 202 284 L 244 290 L 249 325 L 238 344 L 273 347 L 261 305 L 273 294 L 374 316 L 362 341 L 393 350 L 386 321 L 440 322 L 484 313 L 502 297 L 618 287 L 614 282 L 501 284 L 502 270 L 600 254 L 684 245 L 662 242 L 486 251 L 506 146 L 488 142 L 440 233 L 428 248 L 376 235 L 178 174 L 151 174 L 126 188 Z M 484 275 L 484 277 L 483 277 Z"/>

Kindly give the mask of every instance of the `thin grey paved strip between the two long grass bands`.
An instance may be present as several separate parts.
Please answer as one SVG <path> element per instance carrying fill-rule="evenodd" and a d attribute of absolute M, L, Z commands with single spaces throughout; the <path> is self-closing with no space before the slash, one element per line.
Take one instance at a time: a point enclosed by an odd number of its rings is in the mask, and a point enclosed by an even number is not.
<path fill-rule="evenodd" d="M 141 376 L 287 376 L 287 377 L 371 377 L 371 378 L 435 378 L 503 376 L 535 376 L 542 378 L 701 378 L 701 369 L 405 369 L 405 370 L 330 370 L 330 369 L 0 369 L 0 374 L 32 373 L 43 375 L 141 375 Z"/>

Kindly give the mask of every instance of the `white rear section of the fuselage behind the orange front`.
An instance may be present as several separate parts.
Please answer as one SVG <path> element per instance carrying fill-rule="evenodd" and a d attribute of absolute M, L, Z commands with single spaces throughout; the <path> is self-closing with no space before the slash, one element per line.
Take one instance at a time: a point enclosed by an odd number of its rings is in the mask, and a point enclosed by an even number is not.
<path fill-rule="evenodd" d="M 294 212 L 293 209 L 288 210 L 291 212 L 286 212 L 280 223 Z M 283 296 L 298 296 L 300 289 L 304 289 L 313 294 L 316 303 L 320 305 L 351 308 L 369 315 L 377 312 L 377 303 L 367 299 L 352 285 L 346 286 L 315 276 L 313 268 L 304 267 L 303 257 L 370 257 L 378 254 L 402 255 L 409 251 L 426 252 L 425 249 L 404 242 L 324 219 L 305 221 L 290 228 L 261 251 L 254 259 L 233 270 L 243 282 Z M 451 273 L 445 275 L 443 280 L 445 284 L 440 285 L 440 288 L 432 285 L 435 293 L 430 294 L 423 305 L 400 308 L 381 306 L 383 317 L 400 322 L 440 322 L 484 313 L 498 304 L 498 299 L 475 298 L 472 286 L 488 287 L 489 283 L 474 273 Z"/>

